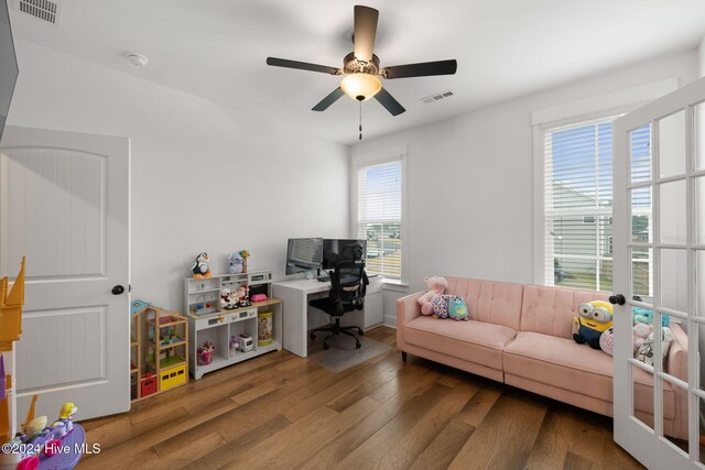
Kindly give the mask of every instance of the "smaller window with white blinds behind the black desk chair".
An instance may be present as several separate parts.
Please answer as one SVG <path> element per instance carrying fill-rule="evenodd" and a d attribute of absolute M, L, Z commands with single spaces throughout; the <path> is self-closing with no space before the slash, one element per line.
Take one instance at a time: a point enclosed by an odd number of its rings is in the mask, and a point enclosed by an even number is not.
<path fill-rule="evenodd" d="M 402 267 L 402 161 L 359 166 L 357 236 L 367 240 L 370 274 L 400 280 Z"/>

